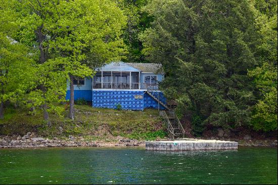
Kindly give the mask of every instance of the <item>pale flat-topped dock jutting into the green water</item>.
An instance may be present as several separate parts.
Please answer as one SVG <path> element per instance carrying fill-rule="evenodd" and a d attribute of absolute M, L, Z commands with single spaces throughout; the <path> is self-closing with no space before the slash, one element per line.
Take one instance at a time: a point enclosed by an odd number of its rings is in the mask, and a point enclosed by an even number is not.
<path fill-rule="evenodd" d="M 200 150 L 238 150 L 238 142 L 219 140 L 196 140 L 184 138 L 177 141 L 146 142 L 146 150 L 155 151 L 200 151 Z"/>

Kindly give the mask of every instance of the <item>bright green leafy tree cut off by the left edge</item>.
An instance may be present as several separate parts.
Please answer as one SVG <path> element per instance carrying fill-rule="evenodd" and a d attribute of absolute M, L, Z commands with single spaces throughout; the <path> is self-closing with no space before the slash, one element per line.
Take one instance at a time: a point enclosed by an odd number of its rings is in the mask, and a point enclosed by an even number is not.
<path fill-rule="evenodd" d="M 4 104 L 16 103 L 31 86 L 35 63 L 30 48 L 9 36 L 18 29 L 15 17 L 1 1 L 0 7 L 0 119 L 4 119 Z"/>

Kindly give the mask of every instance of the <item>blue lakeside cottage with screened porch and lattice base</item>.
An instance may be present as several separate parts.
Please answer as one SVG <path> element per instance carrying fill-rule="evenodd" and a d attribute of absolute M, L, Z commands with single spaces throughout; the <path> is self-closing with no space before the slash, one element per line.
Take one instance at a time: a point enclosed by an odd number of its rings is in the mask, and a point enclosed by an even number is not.
<path fill-rule="evenodd" d="M 112 62 L 96 75 L 74 80 L 74 100 L 91 101 L 92 107 L 126 110 L 168 109 L 158 84 L 164 79 L 161 64 Z M 66 99 L 70 98 L 69 84 Z"/>

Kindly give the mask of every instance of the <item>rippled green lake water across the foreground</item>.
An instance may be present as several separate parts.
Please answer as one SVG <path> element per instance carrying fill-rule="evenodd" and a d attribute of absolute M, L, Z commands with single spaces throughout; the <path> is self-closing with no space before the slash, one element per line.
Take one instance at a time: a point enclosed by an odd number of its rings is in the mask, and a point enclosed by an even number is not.
<path fill-rule="evenodd" d="M 142 147 L 1 149 L 0 183 L 277 184 L 277 148 L 183 153 Z"/>

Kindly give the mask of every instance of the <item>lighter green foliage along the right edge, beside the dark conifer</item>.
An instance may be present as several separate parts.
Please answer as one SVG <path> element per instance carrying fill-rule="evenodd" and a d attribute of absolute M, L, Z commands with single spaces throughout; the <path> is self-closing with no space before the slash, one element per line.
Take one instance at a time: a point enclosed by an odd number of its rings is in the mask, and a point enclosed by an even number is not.
<path fill-rule="evenodd" d="M 277 130 L 277 1 L 254 2 L 259 29 L 257 58 L 261 65 L 248 72 L 258 89 L 252 123 L 256 130 Z"/>

